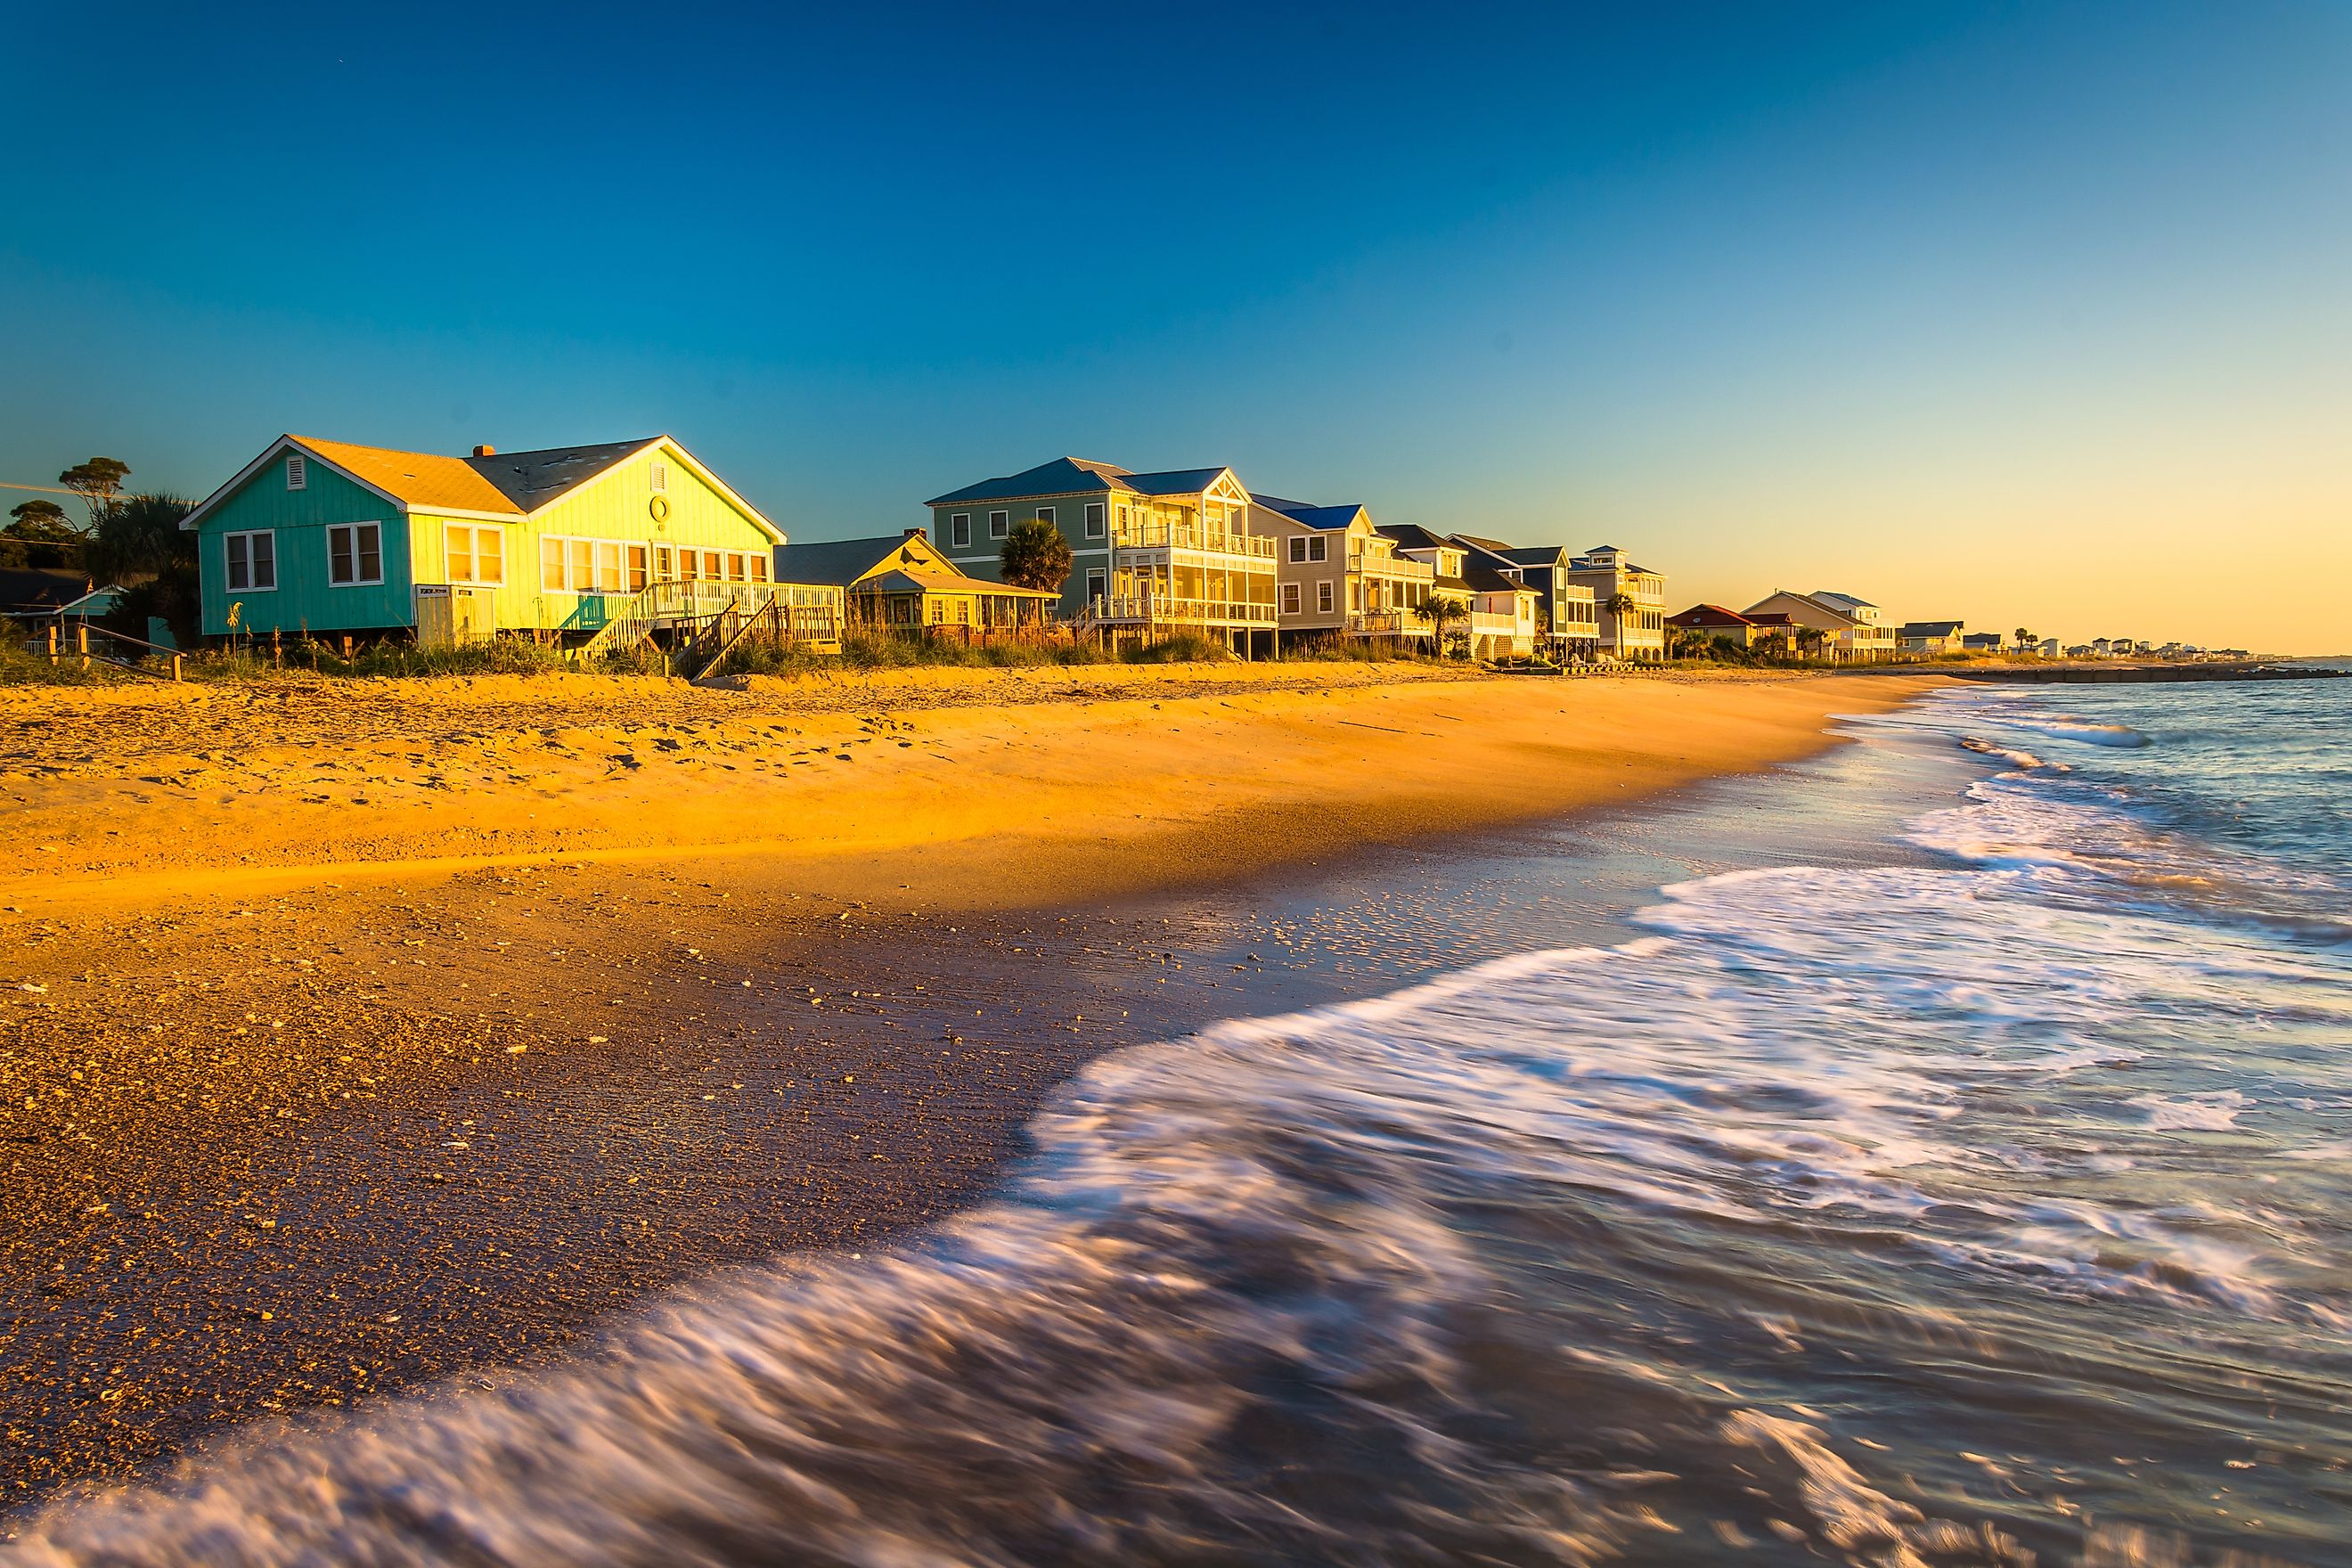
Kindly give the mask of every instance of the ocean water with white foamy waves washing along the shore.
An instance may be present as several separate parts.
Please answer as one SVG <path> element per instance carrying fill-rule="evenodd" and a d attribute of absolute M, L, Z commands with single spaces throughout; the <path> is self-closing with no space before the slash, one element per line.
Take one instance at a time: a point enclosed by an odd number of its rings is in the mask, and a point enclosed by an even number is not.
<path fill-rule="evenodd" d="M 2347 1563 L 2347 710 L 1947 689 L 1710 795 L 1731 865 L 1529 835 L 931 1232 L 0 1556 Z"/>

